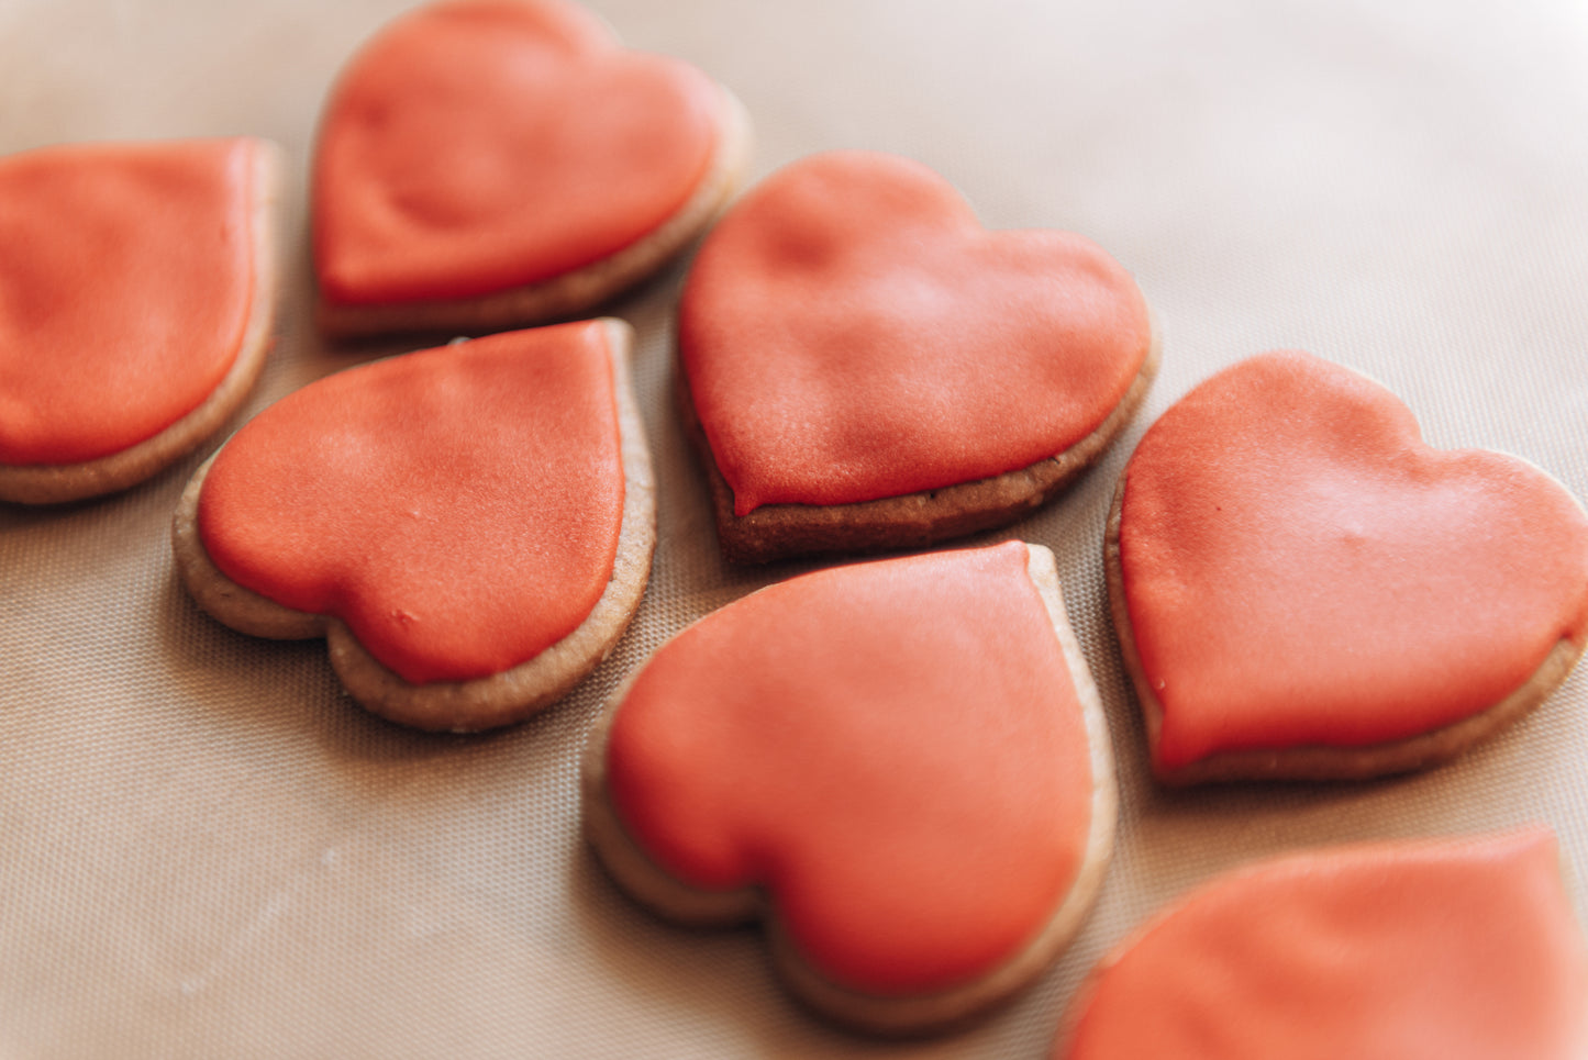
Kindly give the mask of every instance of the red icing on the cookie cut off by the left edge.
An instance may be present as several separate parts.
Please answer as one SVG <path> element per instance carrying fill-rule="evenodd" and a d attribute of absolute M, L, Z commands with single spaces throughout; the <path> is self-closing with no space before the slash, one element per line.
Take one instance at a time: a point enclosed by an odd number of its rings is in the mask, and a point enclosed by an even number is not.
<path fill-rule="evenodd" d="M 0 463 L 159 435 L 237 360 L 254 297 L 254 140 L 0 159 Z"/>

